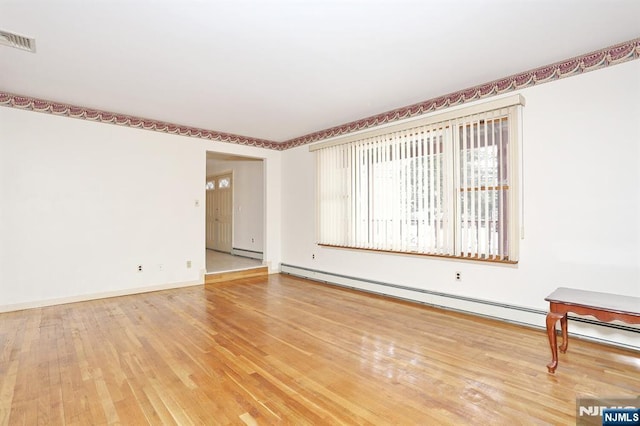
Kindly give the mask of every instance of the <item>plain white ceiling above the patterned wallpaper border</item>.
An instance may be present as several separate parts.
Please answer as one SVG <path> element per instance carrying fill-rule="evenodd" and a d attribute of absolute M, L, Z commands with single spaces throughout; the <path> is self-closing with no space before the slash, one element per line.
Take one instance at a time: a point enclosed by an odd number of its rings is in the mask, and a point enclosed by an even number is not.
<path fill-rule="evenodd" d="M 0 0 L 0 91 L 285 141 L 640 36 L 638 0 Z"/>

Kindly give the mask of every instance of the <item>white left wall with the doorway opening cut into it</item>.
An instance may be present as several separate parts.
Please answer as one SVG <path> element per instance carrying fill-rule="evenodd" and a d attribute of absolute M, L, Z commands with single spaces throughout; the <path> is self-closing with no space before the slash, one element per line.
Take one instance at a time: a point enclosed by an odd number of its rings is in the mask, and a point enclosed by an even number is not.
<path fill-rule="evenodd" d="M 207 150 L 265 159 L 276 271 L 280 152 L 0 108 L 0 310 L 201 283 Z"/>

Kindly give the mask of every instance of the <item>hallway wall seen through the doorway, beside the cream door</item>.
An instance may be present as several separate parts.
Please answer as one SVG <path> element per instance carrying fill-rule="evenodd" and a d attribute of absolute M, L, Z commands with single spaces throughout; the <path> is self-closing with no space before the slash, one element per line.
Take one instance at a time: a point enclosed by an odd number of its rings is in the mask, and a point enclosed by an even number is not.
<path fill-rule="evenodd" d="M 265 190 L 262 161 L 207 161 L 207 175 L 226 172 L 233 173 L 233 248 L 262 252 Z"/>

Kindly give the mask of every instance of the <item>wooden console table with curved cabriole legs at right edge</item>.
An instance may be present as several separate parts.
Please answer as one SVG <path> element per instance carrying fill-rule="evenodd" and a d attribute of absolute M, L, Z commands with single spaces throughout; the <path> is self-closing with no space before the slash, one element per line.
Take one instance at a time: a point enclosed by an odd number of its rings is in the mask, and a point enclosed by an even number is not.
<path fill-rule="evenodd" d="M 578 315 L 593 315 L 604 322 L 620 320 L 628 324 L 640 324 L 640 297 L 560 287 L 544 300 L 549 302 L 549 313 L 547 314 L 547 334 L 551 346 L 551 362 L 547 364 L 549 373 L 554 373 L 558 367 L 558 341 L 556 338 L 558 320 L 560 320 L 562 329 L 560 352 L 567 351 L 569 344 L 568 312 Z"/>

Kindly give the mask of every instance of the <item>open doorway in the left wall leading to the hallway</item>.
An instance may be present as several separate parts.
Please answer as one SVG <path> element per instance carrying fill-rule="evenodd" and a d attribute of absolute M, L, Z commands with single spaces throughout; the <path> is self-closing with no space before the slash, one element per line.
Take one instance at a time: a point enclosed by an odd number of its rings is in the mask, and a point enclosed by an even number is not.
<path fill-rule="evenodd" d="M 263 159 L 207 152 L 207 273 L 262 265 L 264 187 Z"/>

